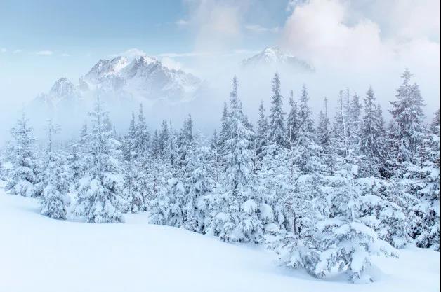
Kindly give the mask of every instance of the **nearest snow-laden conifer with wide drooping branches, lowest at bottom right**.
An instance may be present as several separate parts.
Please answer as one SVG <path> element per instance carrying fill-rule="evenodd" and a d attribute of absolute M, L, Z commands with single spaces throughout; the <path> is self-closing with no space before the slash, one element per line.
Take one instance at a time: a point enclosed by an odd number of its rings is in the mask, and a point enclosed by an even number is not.
<path fill-rule="evenodd" d="M 298 244 L 285 246 L 282 259 L 289 267 L 305 268 L 315 277 L 344 273 L 354 282 L 372 281 L 366 274 L 371 256 L 395 256 L 395 252 L 364 224 L 359 211 L 363 196 L 353 174 L 343 170 L 329 182 L 329 211 L 325 208 L 324 216 L 317 217 L 320 220 L 302 230 Z"/>

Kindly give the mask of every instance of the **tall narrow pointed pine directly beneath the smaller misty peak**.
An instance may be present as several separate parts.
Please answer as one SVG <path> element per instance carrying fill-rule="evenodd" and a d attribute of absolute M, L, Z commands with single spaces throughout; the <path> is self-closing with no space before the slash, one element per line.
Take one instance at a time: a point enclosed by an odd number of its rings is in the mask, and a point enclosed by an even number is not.
<path fill-rule="evenodd" d="M 287 130 L 283 111 L 283 97 L 280 93 L 279 74 L 275 74 L 272 79 L 272 99 L 270 109 L 270 124 L 268 129 L 268 139 L 277 146 L 287 146 Z"/>

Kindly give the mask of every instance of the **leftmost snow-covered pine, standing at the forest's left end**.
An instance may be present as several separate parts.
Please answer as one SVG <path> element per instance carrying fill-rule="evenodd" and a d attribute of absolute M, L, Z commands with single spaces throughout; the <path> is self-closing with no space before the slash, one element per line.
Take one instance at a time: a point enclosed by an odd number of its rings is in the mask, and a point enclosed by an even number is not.
<path fill-rule="evenodd" d="M 36 183 L 38 170 L 32 146 L 36 139 L 32 137 L 32 127 L 29 126 L 29 120 L 25 113 L 17 120 L 15 127 L 11 129 L 11 135 L 15 140 L 13 147 L 9 149 L 13 168 L 9 173 L 5 190 L 12 195 L 34 197 L 34 184 Z"/>

